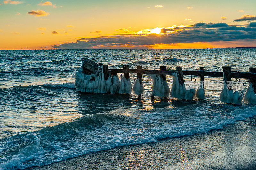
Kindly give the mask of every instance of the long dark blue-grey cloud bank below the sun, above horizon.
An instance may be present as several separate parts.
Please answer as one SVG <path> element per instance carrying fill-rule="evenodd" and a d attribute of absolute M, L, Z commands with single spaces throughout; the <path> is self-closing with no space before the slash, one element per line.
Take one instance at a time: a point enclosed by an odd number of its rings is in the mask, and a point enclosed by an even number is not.
<path fill-rule="evenodd" d="M 165 34 L 118 34 L 97 38 L 81 38 L 76 42 L 63 43 L 54 47 L 59 49 L 146 48 L 148 45 L 155 44 L 256 40 L 256 28 L 249 27 L 249 25 L 245 27 L 230 26 L 226 23 L 196 23 L 195 25 Z"/>

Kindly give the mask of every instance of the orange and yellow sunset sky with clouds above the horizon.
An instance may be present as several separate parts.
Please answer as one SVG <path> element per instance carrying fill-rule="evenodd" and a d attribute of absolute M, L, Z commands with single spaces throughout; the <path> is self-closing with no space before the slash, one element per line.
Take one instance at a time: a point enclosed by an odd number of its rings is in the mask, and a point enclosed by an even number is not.
<path fill-rule="evenodd" d="M 255 6 L 255 0 L 0 0 L 0 50 L 256 47 Z"/>

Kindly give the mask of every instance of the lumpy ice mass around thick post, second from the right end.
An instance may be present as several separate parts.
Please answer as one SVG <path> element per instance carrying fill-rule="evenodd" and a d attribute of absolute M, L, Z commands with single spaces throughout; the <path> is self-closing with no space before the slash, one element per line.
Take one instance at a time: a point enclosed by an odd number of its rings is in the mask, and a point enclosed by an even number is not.
<path fill-rule="evenodd" d="M 243 97 L 238 91 L 228 90 L 226 83 L 224 82 L 223 89 L 220 93 L 220 101 L 224 103 L 241 104 Z"/>

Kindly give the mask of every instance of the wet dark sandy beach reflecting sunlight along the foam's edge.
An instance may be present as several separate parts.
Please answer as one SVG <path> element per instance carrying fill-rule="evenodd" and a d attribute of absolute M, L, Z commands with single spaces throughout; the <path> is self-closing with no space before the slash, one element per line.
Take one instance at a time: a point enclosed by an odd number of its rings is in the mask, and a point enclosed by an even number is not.
<path fill-rule="evenodd" d="M 49 169 L 255 169 L 256 119 L 205 134 L 117 147 L 28 170 Z"/>

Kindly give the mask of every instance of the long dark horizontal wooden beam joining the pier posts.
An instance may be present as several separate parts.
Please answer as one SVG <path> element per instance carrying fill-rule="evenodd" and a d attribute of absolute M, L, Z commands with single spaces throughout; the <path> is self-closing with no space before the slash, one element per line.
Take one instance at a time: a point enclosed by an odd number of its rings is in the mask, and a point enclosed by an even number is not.
<path fill-rule="evenodd" d="M 150 70 L 150 69 L 117 69 L 111 68 L 110 72 L 116 73 L 134 73 L 134 74 L 166 74 L 171 75 L 176 70 Z M 183 75 L 195 75 L 195 76 L 206 76 L 206 77 L 223 77 L 223 72 L 211 72 L 211 71 L 195 71 L 195 70 L 183 70 Z M 256 73 L 249 72 L 232 72 L 232 78 L 241 79 L 256 79 Z"/>

